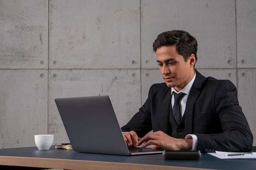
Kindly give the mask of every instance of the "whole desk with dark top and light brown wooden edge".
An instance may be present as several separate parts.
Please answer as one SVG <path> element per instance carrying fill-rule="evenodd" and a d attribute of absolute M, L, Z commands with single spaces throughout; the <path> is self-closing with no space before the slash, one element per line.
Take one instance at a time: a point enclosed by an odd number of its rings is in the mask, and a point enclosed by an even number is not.
<path fill-rule="evenodd" d="M 26 168 L 25 168 L 26 167 Z M 27 168 L 30 167 L 30 168 Z M 0 149 L 0 169 L 11 170 L 255 170 L 256 160 L 224 160 L 202 154 L 198 161 L 164 160 L 162 155 L 118 156 L 36 147 Z"/>

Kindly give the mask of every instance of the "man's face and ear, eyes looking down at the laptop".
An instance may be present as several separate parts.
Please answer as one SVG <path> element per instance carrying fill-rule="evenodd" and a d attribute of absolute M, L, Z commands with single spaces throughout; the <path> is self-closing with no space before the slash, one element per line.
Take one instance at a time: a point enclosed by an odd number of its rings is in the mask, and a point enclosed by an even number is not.
<path fill-rule="evenodd" d="M 168 87 L 182 90 L 194 77 L 195 56 L 191 54 L 185 62 L 176 52 L 176 46 L 161 46 L 156 51 L 160 72 Z"/>

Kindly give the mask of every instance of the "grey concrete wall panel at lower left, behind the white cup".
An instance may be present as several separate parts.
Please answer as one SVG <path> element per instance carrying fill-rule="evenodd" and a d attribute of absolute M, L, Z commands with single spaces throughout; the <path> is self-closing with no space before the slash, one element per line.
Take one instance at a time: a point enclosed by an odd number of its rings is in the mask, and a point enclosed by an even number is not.
<path fill-rule="evenodd" d="M 48 71 L 0 70 L 0 148 L 35 146 L 47 134 Z"/>

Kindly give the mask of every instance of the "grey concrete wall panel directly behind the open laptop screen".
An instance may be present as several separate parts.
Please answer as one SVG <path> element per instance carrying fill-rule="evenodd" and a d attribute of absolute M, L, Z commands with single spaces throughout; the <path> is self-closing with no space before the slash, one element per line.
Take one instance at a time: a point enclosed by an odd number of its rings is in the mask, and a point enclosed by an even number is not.
<path fill-rule="evenodd" d="M 49 132 L 56 143 L 68 142 L 55 98 L 109 95 L 120 126 L 141 106 L 139 69 L 88 69 L 49 71 Z"/>

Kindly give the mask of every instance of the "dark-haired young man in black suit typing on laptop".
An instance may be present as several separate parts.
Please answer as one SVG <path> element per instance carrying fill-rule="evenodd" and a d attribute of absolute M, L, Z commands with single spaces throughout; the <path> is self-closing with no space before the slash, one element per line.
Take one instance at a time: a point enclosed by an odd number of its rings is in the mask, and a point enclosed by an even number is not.
<path fill-rule="evenodd" d="M 236 87 L 229 80 L 204 77 L 195 70 L 197 45 L 186 31 L 157 36 L 153 51 L 165 83 L 150 87 L 145 104 L 121 128 L 129 147 L 252 150 L 252 132 L 238 104 Z M 153 133 L 147 134 L 150 130 Z"/>

